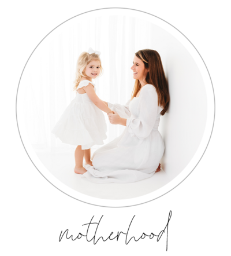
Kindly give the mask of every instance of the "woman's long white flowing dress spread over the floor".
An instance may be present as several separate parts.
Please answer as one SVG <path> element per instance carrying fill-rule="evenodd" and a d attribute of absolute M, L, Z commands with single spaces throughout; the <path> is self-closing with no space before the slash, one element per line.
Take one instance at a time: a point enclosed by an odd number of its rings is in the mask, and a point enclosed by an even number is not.
<path fill-rule="evenodd" d="M 127 119 L 126 128 L 121 136 L 95 151 L 94 167 L 86 164 L 82 178 L 96 183 L 129 183 L 151 177 L 165 150 L 158 131 L 162 108 L 155 87 L 144 85 L 139 97 L 126 105 L 108 105 Z"/>

